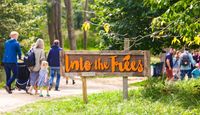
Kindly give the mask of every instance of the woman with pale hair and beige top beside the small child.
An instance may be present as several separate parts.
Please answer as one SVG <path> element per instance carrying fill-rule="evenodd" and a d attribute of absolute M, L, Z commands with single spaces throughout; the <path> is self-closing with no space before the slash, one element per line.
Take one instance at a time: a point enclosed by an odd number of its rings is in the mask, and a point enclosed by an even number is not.
<path fill-rule="evenodd" d="M 45 60 L 44 52 L 44 41 L 42 39 L 37 39 L 35 46 L 33 47 L 33 52 L 35 54 L 35 65 L 30 67 L 30 88 L 28 93 L 32 95 L 32 89 L 35 87 L 35 94 L 37 94 L 37 80 L 39 77 L 40 65 L 43 60 Z"/>

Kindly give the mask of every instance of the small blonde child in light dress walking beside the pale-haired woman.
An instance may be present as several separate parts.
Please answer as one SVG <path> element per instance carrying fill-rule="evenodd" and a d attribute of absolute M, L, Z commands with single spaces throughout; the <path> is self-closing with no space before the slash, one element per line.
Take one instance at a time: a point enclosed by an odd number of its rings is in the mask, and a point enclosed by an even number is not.
<path fill-rule="evenodd" d="M 38 87 L 40 88 L 40 97 L 43 97 L 42 89 L 45 87 L 47 90 L 47 97 L 49 95 L 49 78 L 48 78 L 48 62 L 42 61 L 41 69 L 39 72 Z"/>

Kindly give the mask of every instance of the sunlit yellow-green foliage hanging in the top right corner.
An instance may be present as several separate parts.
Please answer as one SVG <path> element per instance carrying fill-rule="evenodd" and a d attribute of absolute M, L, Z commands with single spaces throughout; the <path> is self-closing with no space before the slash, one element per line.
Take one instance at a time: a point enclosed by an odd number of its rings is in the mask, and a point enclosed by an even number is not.
<path fill-rule="evenodd" d="M 145 4 L 152 10 L 165 9 L 162 15 L 152 20 L 154 39 L 168 39 L 168 44 L 177 48 L 199 48 L 199 0 L 145 0 Z"/>

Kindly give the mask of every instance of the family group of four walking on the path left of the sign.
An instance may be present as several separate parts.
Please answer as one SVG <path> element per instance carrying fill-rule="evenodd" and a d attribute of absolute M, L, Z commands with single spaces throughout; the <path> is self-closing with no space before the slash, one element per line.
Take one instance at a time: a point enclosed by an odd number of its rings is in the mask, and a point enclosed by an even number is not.
<path fill-rule="evenodd" d="M 17 41 L 19 33 L 12 31 L 10 33 L 10 39 L 5 42 L 5 49 L 3 55 L 3 65 L 6 72 L 6 91 L 11 94 L 12 88 L 11 84 L 15 81 L 18 75 L 18 59 L 22 59 L 22 51 L 20 44 Z M 34 66 L 28 67 L 30 71 L 29 84 L 30 87 L 27 90 L 27 93 L 33 95 L 33 89 L 35 89 L 35 94 L 38 94 L 38 89 L 40 89 L 39 96 L 43 97 L 42 89 L 44 87 L 47 90 L 47 95 L 50 96 L 49 90 L 53 87 L 54 76 L 57 76 L 55 91 L 59 91 L 60 84 L 60 51 L 62 48 L 59 46 L 59 40 L 54 40 L 53 45 L 48 53 L 48 56 L 45 57 L 44 51 L 44 41 L 42 39 L 37 39 L 29 52 L 34 52 L 35 64 Z M 50 67 L 50 69 L 49 69 Z M 48 73 L 50 70 L 50 78 Z M 12 73 L 12 76 L 11 76 Z M 73 81 L 74 82 L 74 81 Z"/>

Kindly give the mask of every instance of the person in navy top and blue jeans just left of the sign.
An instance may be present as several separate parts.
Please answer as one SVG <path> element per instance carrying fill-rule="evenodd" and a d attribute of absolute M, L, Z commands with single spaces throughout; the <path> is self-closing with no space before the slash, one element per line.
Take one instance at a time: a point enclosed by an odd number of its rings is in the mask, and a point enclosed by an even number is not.
<path fill-rule="evenodd" d="M 54 40 L 54 43 L 49 51 L 47 61 L 50 66 L 50 87 L 51 90 L 53 86 L 54 76 L 57 75 L 55 91 L 59 91 L 60 84 L 60 51 L 62 48 L 59 45 L 59 40 Z"/>

